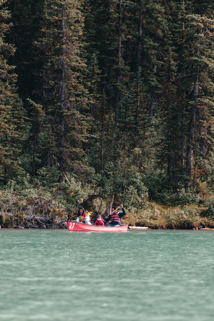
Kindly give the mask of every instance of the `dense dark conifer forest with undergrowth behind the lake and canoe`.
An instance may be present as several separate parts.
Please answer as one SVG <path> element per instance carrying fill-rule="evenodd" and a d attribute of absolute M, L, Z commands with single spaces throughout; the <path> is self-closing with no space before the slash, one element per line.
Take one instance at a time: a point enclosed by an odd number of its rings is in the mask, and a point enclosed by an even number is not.
<path fill-rule="evenodd" d="M 213 32 L 211 0 L 0 0 L 2 227 L 94 192 L 133 225 L 212 226 Z"/>

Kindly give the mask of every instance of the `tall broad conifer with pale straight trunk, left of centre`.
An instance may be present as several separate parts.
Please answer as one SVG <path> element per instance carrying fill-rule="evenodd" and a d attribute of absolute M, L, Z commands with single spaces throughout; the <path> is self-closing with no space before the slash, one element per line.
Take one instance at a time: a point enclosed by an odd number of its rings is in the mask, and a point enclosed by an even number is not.
<path fill-rule="evenodd" d="M 66 169 L 76 173 L 83 170 L 82 142 L 88 136 L 87 99 L 82 85 L 86 65 L 81 52 L 83 16 L 80 1 L 46 1 L 44 17 L 35 43 L 38 56 L 43 57 L 40 87 L 36 90 L 50 131 L 47 153 L 58 160 L 61 183 Z"/>

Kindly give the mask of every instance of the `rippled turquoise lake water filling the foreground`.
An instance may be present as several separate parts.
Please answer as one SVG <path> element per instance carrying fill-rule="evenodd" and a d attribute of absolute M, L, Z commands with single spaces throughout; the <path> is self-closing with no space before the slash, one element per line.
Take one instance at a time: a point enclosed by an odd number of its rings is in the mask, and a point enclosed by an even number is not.
<path fill-rule="evenodd" d="M 214 231 L 0 230 L 3 321 L 214 319 Z"/>

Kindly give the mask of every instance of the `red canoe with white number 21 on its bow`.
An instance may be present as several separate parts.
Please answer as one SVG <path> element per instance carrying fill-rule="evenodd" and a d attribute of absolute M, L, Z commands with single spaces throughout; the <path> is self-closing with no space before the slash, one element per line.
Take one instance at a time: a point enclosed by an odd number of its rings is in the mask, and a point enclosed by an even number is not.
<path fill-rule="evenodd" d="M 112 227 L 67 221 L 67 225 L 70 232 L 126 232 L 128 229 L 128 224 Z"/>

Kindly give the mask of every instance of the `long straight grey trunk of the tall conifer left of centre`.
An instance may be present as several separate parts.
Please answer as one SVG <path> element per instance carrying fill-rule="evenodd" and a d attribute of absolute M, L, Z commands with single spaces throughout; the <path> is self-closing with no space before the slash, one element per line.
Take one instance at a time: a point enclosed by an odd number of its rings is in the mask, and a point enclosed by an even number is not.
<path fill-rule="evenodd" d="M 64 110 L 65 110 L 65 99 L 66 99 L 66 63 L 65 63 L 65 5 L 62 4 L 62 31 L 63 31 L 63 39 L 62 39 L 62 75 L 61 75 L 61 89 L 60 89 L 60 135 L 59 135 L 59 147 L 60 147 L 60 156 L 59 156 L 59 183 L 63 182 L 64 178 Z"/>

